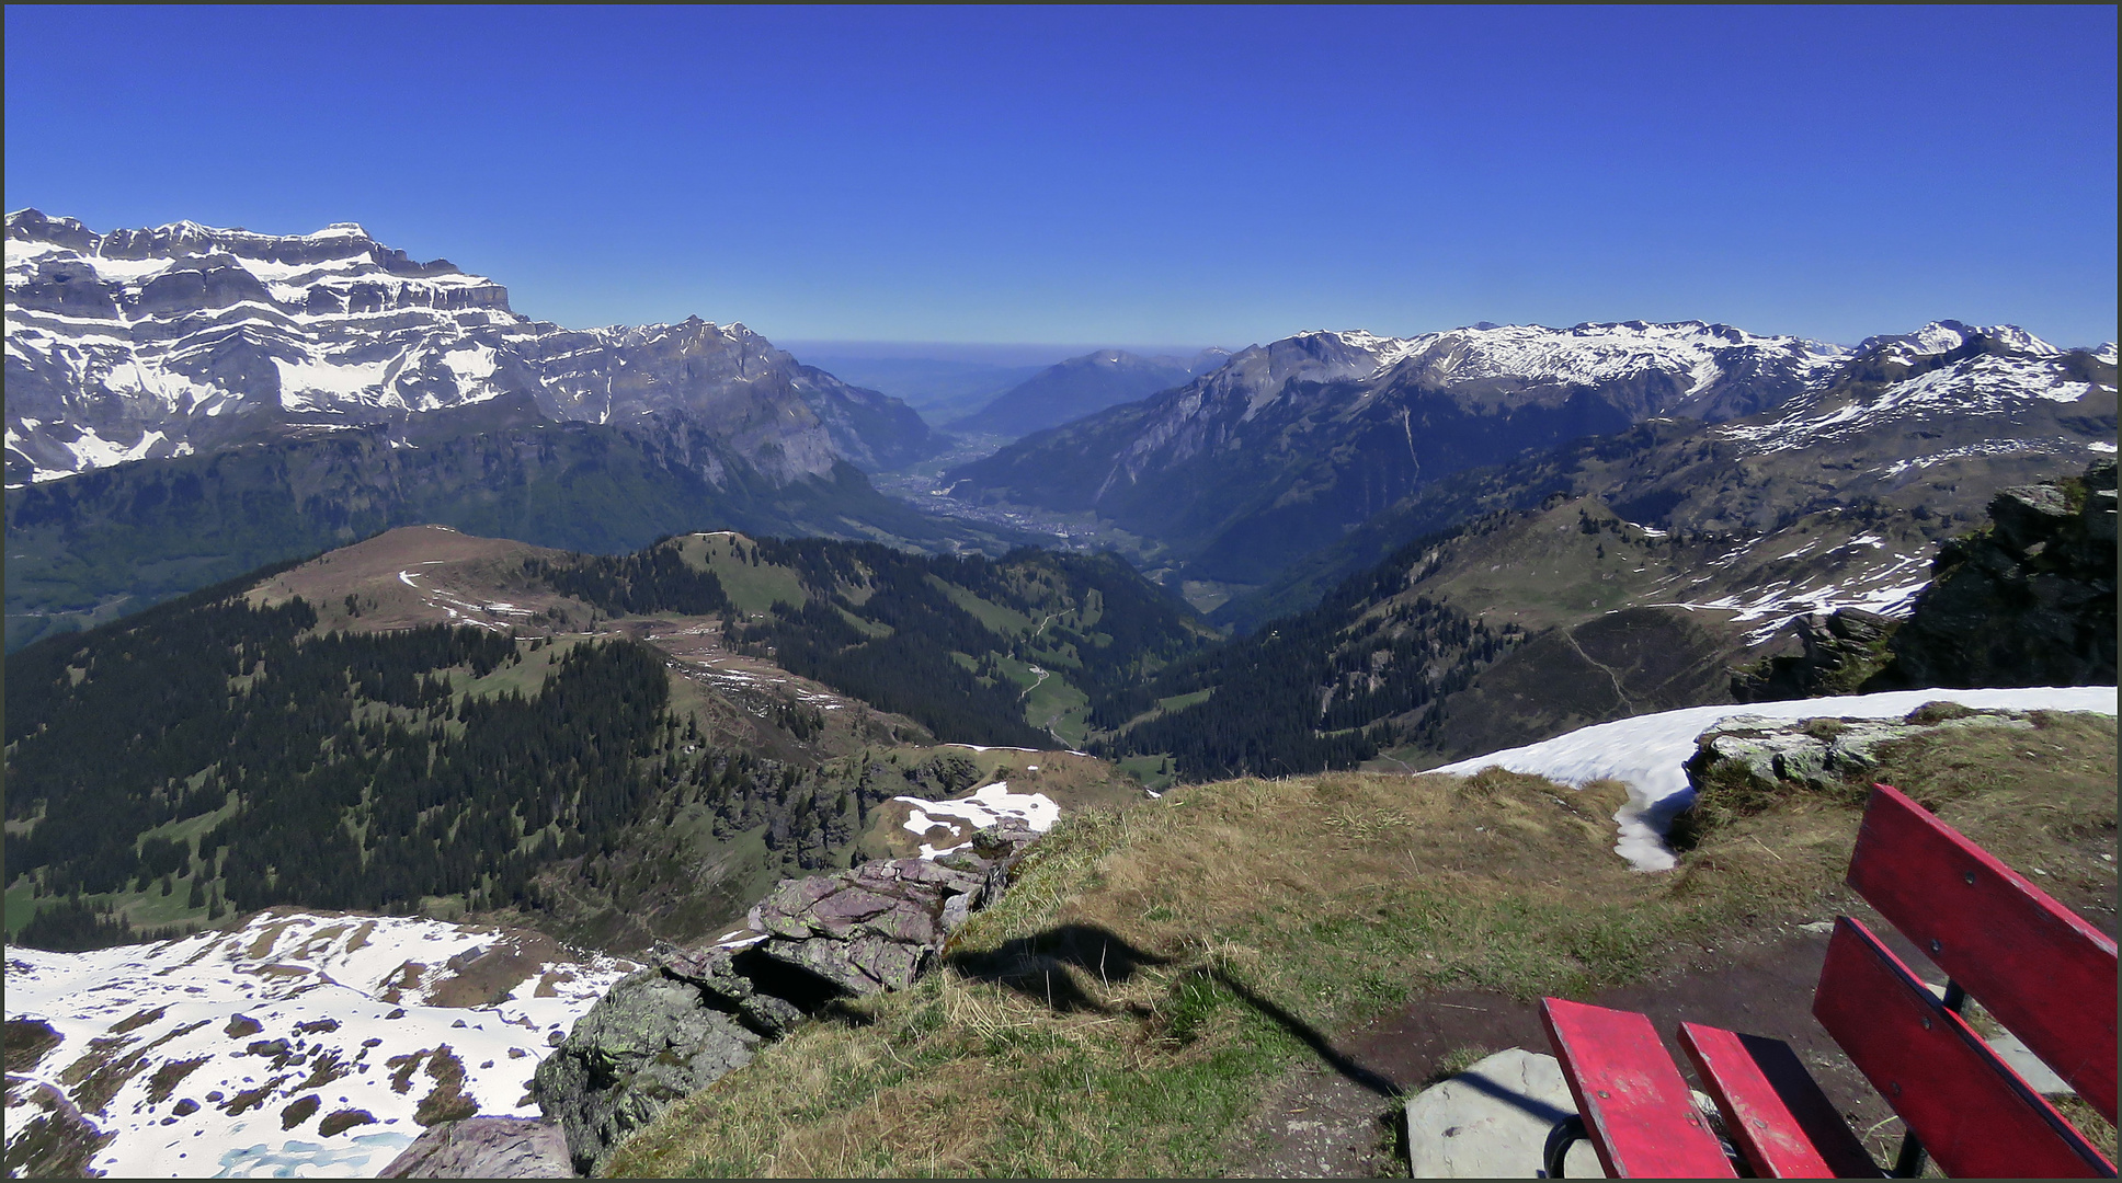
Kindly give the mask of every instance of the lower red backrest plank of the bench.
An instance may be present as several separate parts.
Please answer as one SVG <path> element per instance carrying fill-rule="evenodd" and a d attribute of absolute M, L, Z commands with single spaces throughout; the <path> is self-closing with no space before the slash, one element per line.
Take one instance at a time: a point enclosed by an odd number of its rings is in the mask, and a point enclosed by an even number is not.
<path fill-rule="evenodd" d="M 2111 1162 L 1848 916 L 1827 941 L 1812 1013 L 1946 1175 L 2114 1177 Z"/>

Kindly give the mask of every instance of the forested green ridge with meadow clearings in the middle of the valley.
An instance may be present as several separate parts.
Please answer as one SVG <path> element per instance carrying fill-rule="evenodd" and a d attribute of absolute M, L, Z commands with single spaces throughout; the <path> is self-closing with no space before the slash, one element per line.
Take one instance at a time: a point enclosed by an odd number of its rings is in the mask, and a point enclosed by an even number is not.
<path fill-rule="evenodd" d="M 1086 717 L 1214 640 L 1110 555 L 715 534 L 526 570 L 613 615 L 724 613 L 726 587 L 749 589 L 732 649 L 976 744 L 1080 742 Z"/>

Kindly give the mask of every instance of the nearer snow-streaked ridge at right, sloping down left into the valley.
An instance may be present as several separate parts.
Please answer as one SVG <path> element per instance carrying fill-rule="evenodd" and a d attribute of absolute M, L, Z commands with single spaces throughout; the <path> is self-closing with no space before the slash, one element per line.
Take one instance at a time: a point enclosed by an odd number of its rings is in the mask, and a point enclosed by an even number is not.
<path fill-rule="evenodd" d="M 2075 475 L 2114 452 L 2111 343 L 2058 350 L 2010 324 L 1942 320 L 1863 341 L 1768 411 L 1715 424 L 1645 420 L 1625 435 L 1426 483 L 1222 619 L 1290 611 L 1413 538 L 1551 492 L 1598 496 L 1653 528 L 1727 536 L 1738 566 L 1717 560 L 1717 570 L 1689 572 L 1719 587 L 1679 596 L 1689 604 L 1766 623 L 1780 619 L 1778 604 L 1799 602 L 1891 613 L 1925 583 L 1935 541 L 1982 522 L 1999 490 Z M 1857 513 L 1844 528 L 1804 526 L 1844 511 Z M 1855 524 L 1874 515 L 1886 517 Z M 1808 536 L 1785 541 L 1795 528 Z M 1863 562 L 1821 566 L 1836 547 Z M 1806 570 L 1791 570 L 1787 560 L 1808 551 Z"/>

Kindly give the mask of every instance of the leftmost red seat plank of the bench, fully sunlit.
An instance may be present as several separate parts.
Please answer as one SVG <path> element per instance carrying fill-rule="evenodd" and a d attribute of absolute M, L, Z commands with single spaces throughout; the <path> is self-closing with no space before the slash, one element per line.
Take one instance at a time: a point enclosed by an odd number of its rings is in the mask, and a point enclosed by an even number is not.
<path fill-rule="evenodd" d="M 1734 1177 L 1649 1018 L 1541 999 L 1541 1024 L 1608 1177 Z"/>

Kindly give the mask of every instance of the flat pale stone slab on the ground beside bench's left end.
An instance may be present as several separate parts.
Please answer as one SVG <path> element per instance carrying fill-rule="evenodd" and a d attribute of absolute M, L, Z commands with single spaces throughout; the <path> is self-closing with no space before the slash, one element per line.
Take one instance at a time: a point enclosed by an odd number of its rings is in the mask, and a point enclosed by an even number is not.
<path fill-rule="evenodd" d="M 1577 1113 L 1553 1056 L 1511 1047 L 1407 1102 L 1407 1162 L 1415 1179 L 1538 1179 L 1547 1134 Z M 1570 1179 L 1604 1179 L 1592 1143 L 1562 1160 Z"/>

